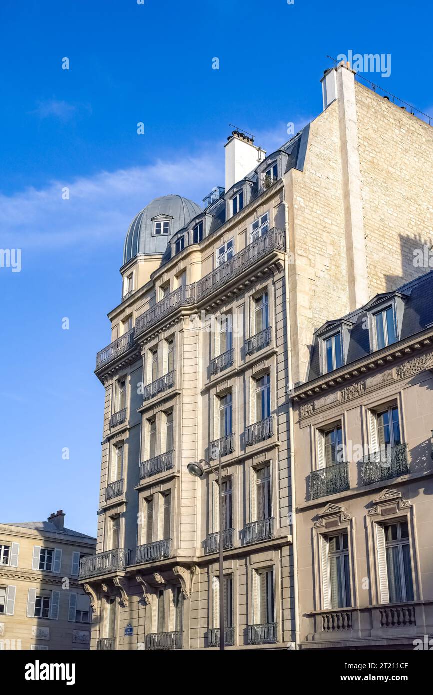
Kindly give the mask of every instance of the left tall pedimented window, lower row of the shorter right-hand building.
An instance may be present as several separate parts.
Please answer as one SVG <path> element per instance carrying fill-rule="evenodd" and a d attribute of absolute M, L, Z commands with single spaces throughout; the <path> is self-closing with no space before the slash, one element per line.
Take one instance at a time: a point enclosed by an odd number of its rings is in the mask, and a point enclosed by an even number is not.
<path fill-rule="evenodd" d="M 331 607 L 348 608 L 352 605 L 348 532 L 332 536 L 327 542 Z"/>

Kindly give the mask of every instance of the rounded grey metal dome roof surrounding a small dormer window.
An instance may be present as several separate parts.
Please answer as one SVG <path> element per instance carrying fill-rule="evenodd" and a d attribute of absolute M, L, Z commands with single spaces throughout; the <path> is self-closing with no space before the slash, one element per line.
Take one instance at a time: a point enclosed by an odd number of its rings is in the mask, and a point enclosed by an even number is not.
<path fill-rule="evenodd" d="M 180 195 L 163 195 L 149 203 L 131 223 L 126 234 L 123 264 L 129 263 L 137 254 L 163 254 L 168 241 L 179 229 L 186 227 L 202 208 Z M 154 222 L 158 215 L 170 218 L 170 234 L 154 234 Z M 163 218 L 161 218 L 163 220 Z"/>

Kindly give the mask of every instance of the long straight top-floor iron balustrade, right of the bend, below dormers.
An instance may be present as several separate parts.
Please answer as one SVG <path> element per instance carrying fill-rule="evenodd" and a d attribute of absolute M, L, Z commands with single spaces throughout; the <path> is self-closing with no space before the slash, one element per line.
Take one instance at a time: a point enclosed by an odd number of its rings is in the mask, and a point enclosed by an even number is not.
<path fill-rule="evenodd" d="M 195 293 L 196 301 L 200 302 L 204 297 L 208 297 L 229 281 L 241 275 L 244 270 L 251 268 L 257 261 L 264 256 L 268 256 L 274 251 L 284 252 L 286 250 L 286 238 L 284 232 L 274 227 L 261 238 L 253 241 L 232 259 L 222 263 L 213 272 L 206 275 L 197 282 Z"/>

